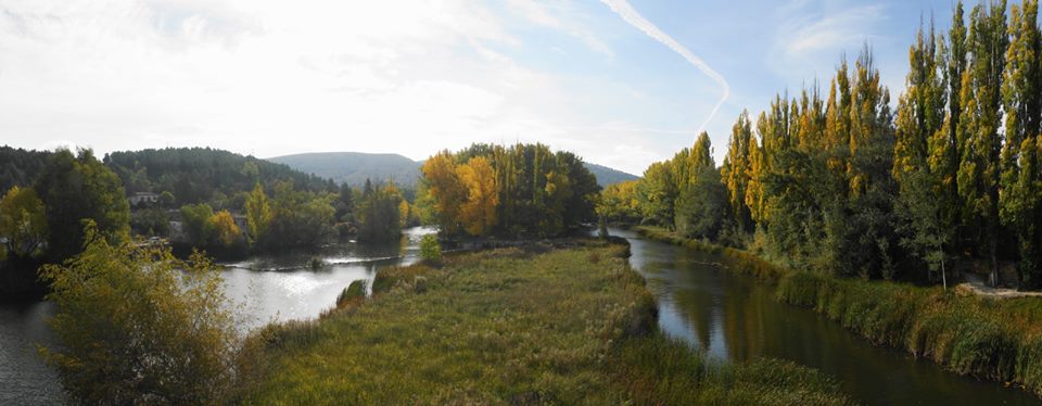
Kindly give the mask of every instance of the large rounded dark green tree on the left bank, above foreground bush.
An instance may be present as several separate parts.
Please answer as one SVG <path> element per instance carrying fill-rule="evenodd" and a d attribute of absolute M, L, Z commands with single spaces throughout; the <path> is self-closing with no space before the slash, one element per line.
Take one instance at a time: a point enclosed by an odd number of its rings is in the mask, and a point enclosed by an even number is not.
<path fill-rule="evenodd" d="M 119 178 L 91 150 L 58 150 L 34 187 L 47 207 L 50 230 L 47 257 L 59 263 L 84 246 L 82 220 L 112 242 L 130 234 L 130 205 Z"/>

